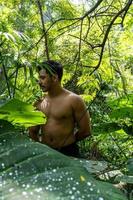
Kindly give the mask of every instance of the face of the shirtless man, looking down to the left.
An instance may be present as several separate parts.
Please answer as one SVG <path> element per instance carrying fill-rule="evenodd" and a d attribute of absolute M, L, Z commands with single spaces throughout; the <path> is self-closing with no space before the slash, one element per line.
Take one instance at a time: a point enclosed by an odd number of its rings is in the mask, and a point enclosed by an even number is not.
<path fill-rule="evenodd" d="M 43 92 L 49 91 L 52 86 L 52 77 L 50 77 L 45 69 L 39 71 L 39 85 Z"/>

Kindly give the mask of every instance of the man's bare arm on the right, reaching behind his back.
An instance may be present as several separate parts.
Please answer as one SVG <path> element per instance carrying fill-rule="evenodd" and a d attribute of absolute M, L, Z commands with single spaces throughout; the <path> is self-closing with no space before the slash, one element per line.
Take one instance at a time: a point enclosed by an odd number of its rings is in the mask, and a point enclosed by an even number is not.
<path fill-rule="evenodd" d="M 76 141 L 83 140 L 91 135 L 90 115 L 82 98 L 75 96 L 73 101 L 73 110 L 78 131 L 75 133 Z"/>

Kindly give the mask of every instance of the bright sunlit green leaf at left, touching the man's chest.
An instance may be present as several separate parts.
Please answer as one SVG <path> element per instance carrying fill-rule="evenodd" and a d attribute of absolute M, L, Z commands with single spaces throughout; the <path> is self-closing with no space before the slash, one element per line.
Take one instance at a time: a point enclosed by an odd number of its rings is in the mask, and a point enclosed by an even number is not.
<path fill-rule="evenodd" d="M 0 119 L 5 119 L 24 127 L 44 124 L 46 120 L 44 114 L 35 111 L 32 105 L 17 99 L 9 100 L 0 107 Z"/>

